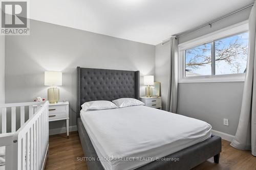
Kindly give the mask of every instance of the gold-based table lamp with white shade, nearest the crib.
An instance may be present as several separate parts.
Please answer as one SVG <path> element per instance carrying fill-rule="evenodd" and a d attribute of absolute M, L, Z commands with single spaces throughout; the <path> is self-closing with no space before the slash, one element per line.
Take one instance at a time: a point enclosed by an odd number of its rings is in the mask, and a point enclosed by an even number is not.
<path fill-rule="evenodd" d="M 62 85 L 62 72 L 45 71 L 45 86 L 48 88 L 48 101 L 50 104 L 56 104 L 59 101 L 59 89 L 56 86 Z"/>

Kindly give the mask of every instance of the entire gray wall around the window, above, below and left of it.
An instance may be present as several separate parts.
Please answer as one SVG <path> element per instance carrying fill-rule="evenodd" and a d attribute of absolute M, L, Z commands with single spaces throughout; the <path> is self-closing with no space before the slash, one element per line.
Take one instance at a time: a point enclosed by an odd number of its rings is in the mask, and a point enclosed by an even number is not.
<path fill-rule="evenodd" d="M 179 43 L 234 25 L 248 19 L 250 9 L 243 10 L 212 25 L 179 38 Z M 168 71 L 169 43 L 156 45 L 156 80 L 161 82 L 163 107 L 165 108 Z M 179 83 L 178 113 L 204 120 L 212 129 L 230 135 L 236 134 L 242 105 L 243 82 L 226 83 Z M 223 125 L 229 119 L 229 126 Z"/>

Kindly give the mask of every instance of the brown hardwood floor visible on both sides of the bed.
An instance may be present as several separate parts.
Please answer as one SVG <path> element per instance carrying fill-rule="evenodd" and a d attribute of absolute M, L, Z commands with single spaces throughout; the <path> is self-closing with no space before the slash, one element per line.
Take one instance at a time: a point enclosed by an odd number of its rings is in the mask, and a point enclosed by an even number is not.
<path fill-rule="evenodd" d="M 193 170 L 216 170 L 216 169 L 242 169 L 256 170 L 256 157 L 250 151 L 239 151 L 229 145 L 230 142 L 222 140 L 222 152 L 220 163 L 214 163 L 214 159 L 208 159 Z M 77 131 L 71 132 L 69 139 L 66 134 L 52 135 L 49 138 L 49 157 L 46 170 L 52 169 L 83 169 L 87 170 L 84 161 L 77 161 L 82 157 L 83 151 Z"/>

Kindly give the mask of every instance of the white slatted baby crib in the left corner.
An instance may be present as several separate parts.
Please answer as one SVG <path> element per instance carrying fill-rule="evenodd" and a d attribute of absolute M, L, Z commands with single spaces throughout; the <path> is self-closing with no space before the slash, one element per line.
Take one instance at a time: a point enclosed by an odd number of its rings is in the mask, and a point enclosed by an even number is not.
<path fill-rule="evenodd" d="M 36 112 L 33 106 L 37 107 Z M 16 110 L 20 110 L 20 127 L 16 127 Z M 49 149 L 49 102 L 0 104 L 0 113 L 2 153 L 5 148 L 5 164 L 0 170 L 44 169 Z M 11 125 L 8 125 L 8 114 Z M 11 132 L 7 133 L 9 126 Z"/>

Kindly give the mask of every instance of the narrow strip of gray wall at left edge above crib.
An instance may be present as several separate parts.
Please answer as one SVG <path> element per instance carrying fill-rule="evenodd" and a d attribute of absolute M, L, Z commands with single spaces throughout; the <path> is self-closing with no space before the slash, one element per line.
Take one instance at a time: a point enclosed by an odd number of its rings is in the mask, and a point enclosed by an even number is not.
<path fill-rule="evenodd" d="M 5 36 L 0 35 L 0 103 L 5 103 Z"/>

